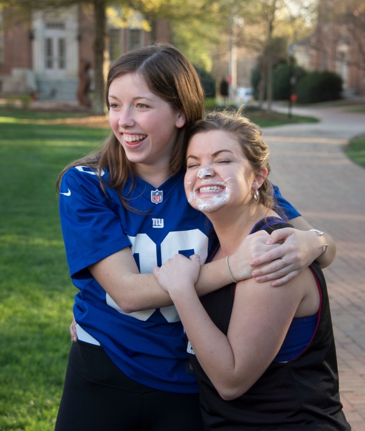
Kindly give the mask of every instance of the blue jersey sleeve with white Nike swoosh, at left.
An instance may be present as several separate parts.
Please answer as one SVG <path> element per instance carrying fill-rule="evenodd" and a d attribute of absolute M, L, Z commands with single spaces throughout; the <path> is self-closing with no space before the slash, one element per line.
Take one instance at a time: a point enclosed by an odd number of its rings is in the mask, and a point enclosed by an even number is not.
<path fill-rule="evenodd" d="M 83 181 L 77 173 L 66 172 L 60 187 L 59 211 L 73 278 L 91 278 L 89 265 L 131 245 L 98 180 Z"/>

